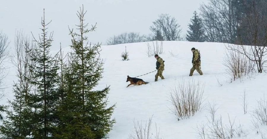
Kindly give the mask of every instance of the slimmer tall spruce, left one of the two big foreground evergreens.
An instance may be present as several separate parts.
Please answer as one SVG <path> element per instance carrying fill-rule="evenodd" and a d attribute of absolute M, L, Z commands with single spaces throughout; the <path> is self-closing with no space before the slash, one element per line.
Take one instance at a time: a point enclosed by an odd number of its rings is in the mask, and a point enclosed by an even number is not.
<path fill-rule="evenodd" d="M 51 22 L 51 21 L 50 21 Z M 39 40 L 34 41 L 37 44 L 34 49 L 35 54 L 31 54 L 31 60 L 35 62 L 31 83 L 36 86 L 36 90 L 29 95 L 28 104 L 33 109 L 34 117 L 31 121 L 34 123 L 32 136 L 34 138 L 49 138 L 52 134 L 53 125 L 56 120 L 55 107 L 59 101 L 58 85 L 58 60 L 51 56 L 50 47 L 53 41 L 53 33 L 47 36 L 47 25 L 45 22 L 45 12 L 42 19 L 42 34 Z"/>

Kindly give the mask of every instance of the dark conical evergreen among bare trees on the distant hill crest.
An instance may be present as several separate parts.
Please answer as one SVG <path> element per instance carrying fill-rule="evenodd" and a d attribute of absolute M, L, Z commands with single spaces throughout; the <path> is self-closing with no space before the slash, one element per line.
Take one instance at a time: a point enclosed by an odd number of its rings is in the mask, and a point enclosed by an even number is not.
<path fill-rule="evenodd" d="M 186 39 L 187 41 L 194 42 L 204 42 L 204 29 L 202 25 L 201 18 L 198 17 L 197 12 L 194 12 L 193 17 L 191 18 L 191 24 L 188 25 L 189 30 L 187 30 Z"/>

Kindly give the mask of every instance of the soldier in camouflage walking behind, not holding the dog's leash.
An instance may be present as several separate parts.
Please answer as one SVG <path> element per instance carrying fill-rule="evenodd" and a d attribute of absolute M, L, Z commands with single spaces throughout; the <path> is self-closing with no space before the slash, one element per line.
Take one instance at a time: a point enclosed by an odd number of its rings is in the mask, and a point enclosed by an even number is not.
<path fill-rule="evenodd" d="M 202 71 L 200 70 L 200 65 L 201 65 L 201 61 L 200 61 L 200 54 L 198 52 L 198 49 L 195 49 L 195 48 L 192 48 L 191 51 L 193 52 L 193 58 L 192 58 L 192 64 L 193 64 L 193 67 L 191 68 L 190 70 L 190 74 L 189 76 L 192 76 L 193 75 L 193 72 L 195 70 L 197 70 L 197 72 L 200 74 L 200 75 L 203 75 Z"/>

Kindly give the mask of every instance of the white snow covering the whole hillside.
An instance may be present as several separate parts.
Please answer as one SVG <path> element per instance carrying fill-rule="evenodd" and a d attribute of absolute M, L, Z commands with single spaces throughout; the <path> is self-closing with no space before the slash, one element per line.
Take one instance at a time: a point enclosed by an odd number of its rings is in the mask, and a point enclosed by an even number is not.
<path fill-rule="evenodd" d="M 152 42 L 150 42 L 152 45 Z M 231 82 L 225 73 L 223 65 L 223 56 L 225 55 L 225 43 L 208 43 L 208 42 L 187 42 L 187 41 L 164 41 L 163 54 L 159 54 L 165 61 L 165 70 L 163 76 L 166 78 L 154 82 L 156 72 L 138 77 L 147 85 L 126 86 L 127 75 L 136 77 L 145 73 L 156 70 L 156 59 L 154 56 L 147 56 L 147 42 L 119 44 L 112 46 L 102 46 L 100 52 L 101 58 L 104 59 L 103 79 L 99 82 L 96 89 L 103 89 L 110 85 L 109 104 L 115 104 L 116 108 L 112 118 L 116 119 L 113 129 L 109 132 L 110 139 L 126 139 L 134 131 L 134 122 L 139 121 L 143 125 L 153 115 L 151 133 L 152 138 L 155 136 L 155 123 L 160 137 L 165 139 L 193 139 L 197 138 L 197 125 L 206 124 L 209 117 L 208 104 L 216 104 L 216 119 L 222 116 L 224 125 L 229 125 L 228 114 L 231 122 L 235 119 L 234 126 L 242 126 L 244 137 L 248 139 L 261 139 L 261 131 L 267 133 L 267 126 L 260 126 L 259 130 L 253 128 L 251 114 L 257 107 L 257 100 L 263 98 L 266 93 L 266 73 L 256 74 L 244 80 Z M 122 61 L 121 53 L 129 52 L 128 61 Z M 189 77 L 190 68 L 192 67 L 191 48 L 195 47 L 201 53 L 201 70 L 204 75 L 199 75 L 196 71 L 192 77 Z M 69 47 L 63 49 L 66 54 L 70 51 Z M 172 56 L 172 52 L 175 56 Z M 9 67 L 12 64 L 9 63 Z M 180 81 L 195 80 L 204 84 L 203 108 L 190 119 L 180 121 L 171 114 L 169 108 L 170 90 L 177 86 Z M 12 99 L 12 83 L 16 81 L 15 69 L 10 68 L 6 77 L 5 89 L 6 98 Z M 219 83 L 222 85 L 219 85 Z M 242 108 L 242 96 L 244 90 L 247 95 L 247 114 L 244 114 Z M 7 104 L 6 98 L 1 100 L 1 104 Z M 267 134 L 266 134 L 267 135 Z M 239 138 L 234 136 L 233 138 Z"/>

